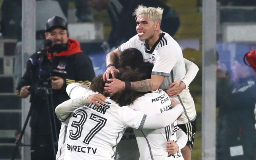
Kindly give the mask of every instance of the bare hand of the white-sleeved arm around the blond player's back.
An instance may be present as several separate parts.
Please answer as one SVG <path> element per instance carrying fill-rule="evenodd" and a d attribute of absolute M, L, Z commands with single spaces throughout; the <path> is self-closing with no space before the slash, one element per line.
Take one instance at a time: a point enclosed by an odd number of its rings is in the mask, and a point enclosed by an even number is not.
<path fill-rule="evenodd" d="M 182 90 L 184 90 L 186 88 L 186 84 L 183 81 L 175 81 L 173 83 L 171 83 L 169 85 L 169 87 L 171 87 L 168 90 L 164 90 L 170 97 L 175 97 L 178 94 L 180 94 L 180 92 Z"/>

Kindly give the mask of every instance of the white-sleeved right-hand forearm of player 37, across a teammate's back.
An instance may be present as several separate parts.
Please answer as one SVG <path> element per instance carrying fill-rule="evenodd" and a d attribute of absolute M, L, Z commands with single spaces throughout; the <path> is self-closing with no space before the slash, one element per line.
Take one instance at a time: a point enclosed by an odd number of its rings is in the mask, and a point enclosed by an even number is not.
<path fill-rule="evenodd" d="M 174 108 L 157 115 L 147 115 L 143 129 L 159 129 L 174 122 L 182 113 L 183 108 L 180 104 Z"/>

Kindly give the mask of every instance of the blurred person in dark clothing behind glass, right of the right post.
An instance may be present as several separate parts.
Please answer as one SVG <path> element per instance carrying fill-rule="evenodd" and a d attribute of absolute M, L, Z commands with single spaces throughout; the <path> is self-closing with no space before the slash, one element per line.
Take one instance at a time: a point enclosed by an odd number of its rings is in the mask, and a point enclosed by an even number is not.
<path fill-rule="evenodd" d="M 243 62 L 243 55 L 236 55 L 231 67 L 219 64 L 217 72 L 217 121 L 216 155 L 218 160 L 255 159 L 256 130 L 254 108 L 256 103 L 256 74 Z M 223 72 L 222 74 L 221 71 Z M 236 156 L 232 147 L 238 146 Z"/>

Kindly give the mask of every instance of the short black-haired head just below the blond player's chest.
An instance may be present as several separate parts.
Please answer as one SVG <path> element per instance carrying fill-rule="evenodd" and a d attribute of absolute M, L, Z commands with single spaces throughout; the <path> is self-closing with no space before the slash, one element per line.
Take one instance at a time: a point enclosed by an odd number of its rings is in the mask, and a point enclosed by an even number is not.
<path fill-rule="evenodd" d="M 132 69 L 135 69 L 138 68 L 141 63 L 143 63 L 142 53 L 136 48 L 128 48 L 120 54 L 118 68 L 129 66 Z"/>

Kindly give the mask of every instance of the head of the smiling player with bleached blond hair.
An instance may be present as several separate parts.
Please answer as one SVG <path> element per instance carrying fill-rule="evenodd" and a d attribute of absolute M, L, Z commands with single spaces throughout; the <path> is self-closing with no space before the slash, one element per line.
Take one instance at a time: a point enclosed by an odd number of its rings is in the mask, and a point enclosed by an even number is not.
<path fill-rule="evenodd" d="M 139 5 L 133 15 L 136 16 L 136 31 L 140 40 L 150 40 L 161 32 L 160 25 L 164 9 Z"/>

